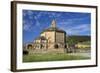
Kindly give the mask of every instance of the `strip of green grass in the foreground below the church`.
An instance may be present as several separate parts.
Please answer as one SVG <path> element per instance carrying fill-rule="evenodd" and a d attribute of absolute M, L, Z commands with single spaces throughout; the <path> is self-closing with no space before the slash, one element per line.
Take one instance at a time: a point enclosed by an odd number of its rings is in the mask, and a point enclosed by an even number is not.
<path fill-rule="evenodd" d="M 73 56 L 73 55 L 68 55 L 68 54 L 30 54 L 30 55 L 23 55 L 23 62 L 84 60 L 84 59 L 89 59 L 89 57 Z"/>

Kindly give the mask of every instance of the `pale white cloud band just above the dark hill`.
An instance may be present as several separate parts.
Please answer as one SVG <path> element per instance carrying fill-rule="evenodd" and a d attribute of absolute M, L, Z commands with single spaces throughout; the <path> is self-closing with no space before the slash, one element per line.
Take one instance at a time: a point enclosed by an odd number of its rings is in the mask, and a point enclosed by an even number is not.
<path fill-rule="evenodd" d="M 90 24 L 81 24 L 75 27 L 65 28 L 63 27 L 67 34 L 69 35 L 90 35 Z"/>

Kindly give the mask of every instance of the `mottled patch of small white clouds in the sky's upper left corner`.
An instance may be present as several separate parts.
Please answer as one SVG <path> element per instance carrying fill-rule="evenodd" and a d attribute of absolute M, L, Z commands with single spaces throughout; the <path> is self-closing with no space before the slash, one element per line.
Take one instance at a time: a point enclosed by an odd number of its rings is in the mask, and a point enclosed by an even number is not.
<path fill-rule="evenodd" d="M 42 15 L 41 12 L 38 13 Z M 32 31 L 34 30 L 34 26 L 40 26 L 40 22 L 38 20 L 38 15 L 36 12 L 32 10 L 23 10 L 23 30 L 24 31 Z"/>

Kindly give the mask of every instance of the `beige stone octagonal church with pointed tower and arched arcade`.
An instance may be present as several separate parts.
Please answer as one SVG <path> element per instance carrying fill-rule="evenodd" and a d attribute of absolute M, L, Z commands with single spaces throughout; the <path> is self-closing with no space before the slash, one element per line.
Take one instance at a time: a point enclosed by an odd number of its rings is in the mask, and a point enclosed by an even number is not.
<path fill-rule="evenodd" d="M 39 37 L 26 45 L 27 49 L 31 53 L 64 53 L 67 47 L 66 32 L 56 25 L 56 21 L 52 20 L 49 28 L 44 29 Z"/>

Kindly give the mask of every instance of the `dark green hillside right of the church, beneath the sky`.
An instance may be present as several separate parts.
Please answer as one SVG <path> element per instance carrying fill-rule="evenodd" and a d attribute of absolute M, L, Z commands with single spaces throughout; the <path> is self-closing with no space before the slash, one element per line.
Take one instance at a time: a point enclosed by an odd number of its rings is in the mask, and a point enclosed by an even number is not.
<path fill-rule="evenodd" d="M 84 41 L 91 41 L 91 36 L 72 35 L 66 37 L 67 42 L 79 43 Z"/>

